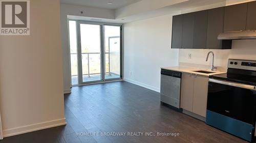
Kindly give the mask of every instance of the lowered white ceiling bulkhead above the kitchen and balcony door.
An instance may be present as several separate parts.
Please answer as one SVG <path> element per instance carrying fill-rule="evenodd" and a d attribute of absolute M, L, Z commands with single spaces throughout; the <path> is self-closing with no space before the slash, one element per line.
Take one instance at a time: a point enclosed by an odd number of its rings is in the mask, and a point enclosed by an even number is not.
<path fill-rule="evenodd" d="M 119 1 L 119 0 L 116 0 L 116 1 Z M 156 3 L 159 1 L 161 1 L 162 3 Z M 241 1 L 241 0 L 229 0 L 229 1 Z M 141 5 L 145 7 L 142 8 Z M 82 21 L 93 21 L 93 22 L 127 23 L 127 22 L 137 21 L 141 19 L 157 17 L 161 15 L 177 15 L 177 14 L 182 14 L 187 12 L 222 7 L 225 5 L 226 5 L 226 0 L 214 0 L 214 1 L 213 0 L 142 0 L 138 3 L 135 3 L 134 5 L 130 5 L 130 6 L 123 7 L 116 10 L 115 16 L 114 16 L 115 18 L 108 19 L 108 18 L 90 17 L 90 16 L 84 16 L 84 15 L 75 16 L 72 14 L 68 15 L 68 18 L 71 20 L 82 20 Z M 150 7 L 151 9 L 146 9 L 147 7 Z M 124 14 L 122 15 L 122 13 Z"/>

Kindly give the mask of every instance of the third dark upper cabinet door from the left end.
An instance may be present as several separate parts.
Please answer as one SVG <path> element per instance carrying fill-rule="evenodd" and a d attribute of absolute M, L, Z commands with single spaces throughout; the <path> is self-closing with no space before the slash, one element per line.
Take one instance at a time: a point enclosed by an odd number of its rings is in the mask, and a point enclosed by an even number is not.
<path fill-rule="evenodd" d="M 198 11 L 194 13 L 194 36 L 193 36 L 193 49 L 206 48 L 207 36 L 207 15 L 208 11 Z"/>

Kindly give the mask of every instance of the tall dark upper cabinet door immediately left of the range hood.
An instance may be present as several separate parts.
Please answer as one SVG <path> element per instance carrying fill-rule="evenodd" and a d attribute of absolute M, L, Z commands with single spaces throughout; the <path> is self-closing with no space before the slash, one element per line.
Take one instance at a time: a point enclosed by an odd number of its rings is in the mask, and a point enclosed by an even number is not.
<path fill-rule="evenodd" d="M 207 24 L 207 49 L 221 49 L 222 40 L 218 40 L 218 35 L 223 32 L 224 7 L 208 10 Z"/>

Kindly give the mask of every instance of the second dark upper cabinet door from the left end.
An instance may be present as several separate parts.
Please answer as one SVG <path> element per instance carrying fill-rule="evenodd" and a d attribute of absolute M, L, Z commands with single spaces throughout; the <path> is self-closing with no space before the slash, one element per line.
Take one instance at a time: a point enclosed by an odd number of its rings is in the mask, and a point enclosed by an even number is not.
<path fill-rule="evenodd" d="M 194 12 L 183 15 L 182 48 L 184 49 L 193 48 L 194 21 L 195 21 Z"/>

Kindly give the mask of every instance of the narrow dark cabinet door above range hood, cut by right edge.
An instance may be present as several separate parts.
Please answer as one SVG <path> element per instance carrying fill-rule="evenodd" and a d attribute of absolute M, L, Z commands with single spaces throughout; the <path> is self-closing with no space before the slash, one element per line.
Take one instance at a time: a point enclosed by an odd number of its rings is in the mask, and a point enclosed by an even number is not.
<path fill-rule="evenodd" d="M 256 1 L 248 3 L 246 30 L 256 30 Z"/>

